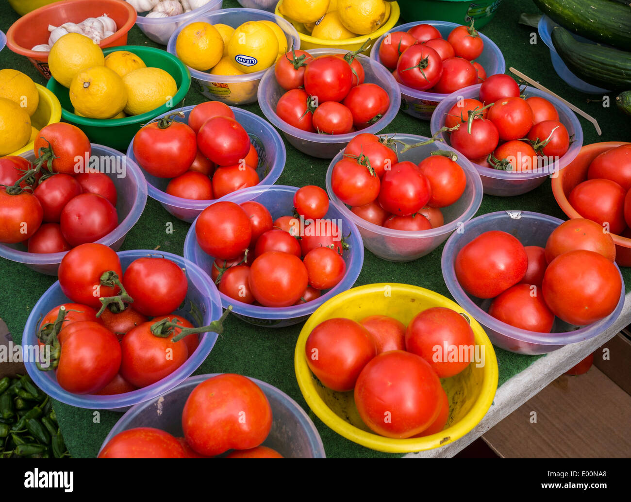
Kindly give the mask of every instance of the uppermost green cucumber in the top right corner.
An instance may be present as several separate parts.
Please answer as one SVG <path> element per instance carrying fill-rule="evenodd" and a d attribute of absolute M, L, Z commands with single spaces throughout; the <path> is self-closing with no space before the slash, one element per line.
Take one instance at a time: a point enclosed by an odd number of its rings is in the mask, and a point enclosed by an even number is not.
<path fill-rule="evenodd" d="M 586 39 L 631 51 L 631 8 L 611 0 L 533 0 L 543 13 Z"/>

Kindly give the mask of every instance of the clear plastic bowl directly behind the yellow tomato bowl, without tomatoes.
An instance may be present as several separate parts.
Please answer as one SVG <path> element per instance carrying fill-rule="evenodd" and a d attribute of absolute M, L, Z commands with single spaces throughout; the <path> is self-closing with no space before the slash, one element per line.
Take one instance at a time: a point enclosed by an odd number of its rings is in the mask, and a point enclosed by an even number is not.
<path fill-rule="evenodd" d="M 402 141 L 406 145 L 413 145 L 428 138 L 423 136 L 415 136 L 415 134 L 394 134 L 394 140 Z M 430 156 L 435 150 L 448 150 L 455 152 L 458 156 L 457 163 L 460 165 L 467 177 L 467 185 L 464 193 L 451 206 L 440 208 L 445 218 L 445 224 L 441 227 L 430 230 L 419 230 L 416 232 L 406 232 L 404 230 L 387 229 L 379 225 L 367 222 L 363 218 L 358 217 L 355 213 L 341 201 L 333 192 L 331 186 L 331 175 L 333 167 L 343 157 L 343 152 L 339 152 L 326 172 L 326 191 L 329 198 L 339 212 L 346 218 L 350 219 L 362 234 L 363 245 L 372 251 L 373 254 L 388 261 L 411 261 L 431 253 L 440 244 L 442 244 L 449 234 L 461 227 L 464 222 L 473 218 L 480 203 L 482 202 L 482 182 L 480 175 L 473 167 L 473 164 L 467 160 L 464 155 L 456 152 L 451 146 L 444 143 L 430 143 L 408 150 L 408 152 L 399 154 L 399 162 L 410 160 L 415 164 L 421 162 L 424 158 Z"/>

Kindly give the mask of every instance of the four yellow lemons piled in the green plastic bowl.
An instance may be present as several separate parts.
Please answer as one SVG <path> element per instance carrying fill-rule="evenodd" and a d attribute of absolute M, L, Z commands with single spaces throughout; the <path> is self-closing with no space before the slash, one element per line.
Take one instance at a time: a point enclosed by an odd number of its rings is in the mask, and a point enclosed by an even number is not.
<path fill-rule="evenodd" d="M 105 57 L 81 33 L 63 35 L 50 49 L 50 73 L 68 87 L 74 113 L 91 119 L 119 119 L 150 112 L 172 99 L 177 84 L 162 68 L 147 68 L 128 51 Z"/>

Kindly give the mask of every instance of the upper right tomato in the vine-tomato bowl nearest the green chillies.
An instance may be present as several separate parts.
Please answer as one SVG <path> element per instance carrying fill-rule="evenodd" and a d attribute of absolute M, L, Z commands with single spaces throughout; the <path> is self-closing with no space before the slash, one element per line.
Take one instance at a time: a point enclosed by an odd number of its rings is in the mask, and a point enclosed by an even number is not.
<path fill-rule="evenodd" d="M 134 309 L 146 316 L 172 313 L 186 298 L 189 283 L 177 263 L 167 258 L 138 258 L 122 277 Z"/>

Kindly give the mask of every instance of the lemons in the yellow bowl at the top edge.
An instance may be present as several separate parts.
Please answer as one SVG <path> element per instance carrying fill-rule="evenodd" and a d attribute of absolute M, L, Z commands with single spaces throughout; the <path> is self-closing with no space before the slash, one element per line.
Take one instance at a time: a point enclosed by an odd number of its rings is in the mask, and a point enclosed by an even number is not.
<path fill-rule="evenodd" d="M 375 32 L 390 17 L 384 0 L 283 0 L 278 11 L 301 33 L 344 40 Z"/>

